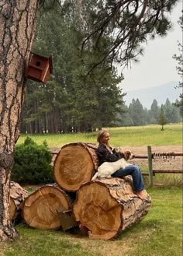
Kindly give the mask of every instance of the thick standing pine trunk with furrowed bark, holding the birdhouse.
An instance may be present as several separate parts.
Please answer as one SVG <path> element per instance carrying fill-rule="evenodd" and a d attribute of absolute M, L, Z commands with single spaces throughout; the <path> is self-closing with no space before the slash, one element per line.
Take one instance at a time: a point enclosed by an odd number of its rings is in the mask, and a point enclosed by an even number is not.
<path fill-rule="evenodd" d="M 9 184 L 37 8 L 37 0 L 0 2 L 0 240 L 17 236 L 9 217 Z"/>

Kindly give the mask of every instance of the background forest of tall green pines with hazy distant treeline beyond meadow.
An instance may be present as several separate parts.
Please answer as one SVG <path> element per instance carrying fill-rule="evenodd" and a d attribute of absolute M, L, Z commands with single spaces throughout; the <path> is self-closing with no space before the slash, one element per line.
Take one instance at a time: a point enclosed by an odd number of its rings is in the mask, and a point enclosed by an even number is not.
<path fill-rule="evenodd" d="M 90 5 L 85 8 L 86 13 L 92 11 Z M 91 30 L 91 20 L 85 17 L 85 23 L 81 22 L 74 5 L 64 15 L 61 9 L 40 13 L 33 52 L 47 57 L 51 54 L 54 73 L 47 85 L 28 81 L 22 133 L 92 132 L 106 126 L 158 124 L 162 111 L 166 123 L 181 121 L 179 108 L 168 99 L 161 107 L 154 100 L 150 110 L 138 99 L 127 107 L 125 93 L 119 88 L 123 75 L 118 75 L 111 62 L 88 72 L 111 41 L 106 35 L 100 38 L 99 48 L 88 47 L 81 54 L 79 45 L 85 30 Z"/>

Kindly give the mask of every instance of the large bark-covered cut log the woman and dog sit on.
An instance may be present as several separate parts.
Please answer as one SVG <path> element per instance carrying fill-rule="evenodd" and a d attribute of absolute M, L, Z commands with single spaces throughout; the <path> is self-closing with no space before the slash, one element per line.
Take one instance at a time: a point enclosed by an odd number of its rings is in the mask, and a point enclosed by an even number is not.
<path fill-rule="evenodd" d="M 105 178 L 81 185 L 73 212 L 89 238 L 109 240 L 142 220 L 150 205 L 149 195 L 142 201 L 133 193 L 131 177 Z"/>

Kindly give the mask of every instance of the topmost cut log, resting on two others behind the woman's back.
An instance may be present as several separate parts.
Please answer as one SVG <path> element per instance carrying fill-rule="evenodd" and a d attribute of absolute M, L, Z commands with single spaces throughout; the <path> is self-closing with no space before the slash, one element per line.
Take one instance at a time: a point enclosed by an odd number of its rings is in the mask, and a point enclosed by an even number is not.
<path fill-rule="evenodd" d="M 90 181 L 98 168 L 97 146 L 70 143 L 62 147 L 54 161 L 54 179 L 65 191 L 77 191 Z"/>

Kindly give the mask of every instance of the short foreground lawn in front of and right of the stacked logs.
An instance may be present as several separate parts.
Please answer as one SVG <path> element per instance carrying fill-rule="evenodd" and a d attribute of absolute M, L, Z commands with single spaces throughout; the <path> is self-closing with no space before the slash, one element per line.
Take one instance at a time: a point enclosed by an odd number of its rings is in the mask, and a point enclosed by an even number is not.
<path fill-rule="evenodd" d="M 152 207 L 141 223 L 115 240 L 89 240 L 79 233 L 34 230 L 19 224 L 20 237 L 0 244 L 1 256 L 180 256 L 182 254 L 181 188 L 148 188 Z"/>

